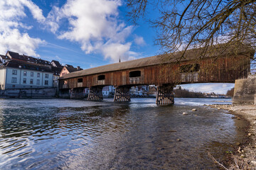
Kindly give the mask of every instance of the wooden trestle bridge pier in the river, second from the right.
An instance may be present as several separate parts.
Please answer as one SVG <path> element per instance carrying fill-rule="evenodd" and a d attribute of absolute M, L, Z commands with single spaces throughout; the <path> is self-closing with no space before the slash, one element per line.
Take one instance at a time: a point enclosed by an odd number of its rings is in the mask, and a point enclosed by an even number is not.
<path fill-rule="evenodd" d="M 115 102 L 129 102 L 131 101 L 131 97 L 129 95 L 129 87 L 128 86 L 118 86 L 114 91 L 114 101 Z"/>

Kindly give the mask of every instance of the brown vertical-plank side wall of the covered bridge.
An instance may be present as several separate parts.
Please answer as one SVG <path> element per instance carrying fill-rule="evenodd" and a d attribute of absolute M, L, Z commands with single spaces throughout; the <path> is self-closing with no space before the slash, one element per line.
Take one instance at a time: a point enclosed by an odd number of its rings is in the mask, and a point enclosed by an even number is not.
<path fill-rule="evenodd" d="M 197 81 L 181 81 L 179 67 L 194 62 L 182 62 L 181 64 L 161 64 L 137 69 L 120 70 L 117 72 L 106 72 L 102 74 L 92 74 L 84 77 L 74 77 L 70 79 L 60 79 L 60 89 L 64 81 L 68 81 L 68 89 L 78 88 L 78 79 L 82 78 L 82 86 L 90 88 L 98 86 L 97 77 L 105 75 L 105 86 L 135 86 L 140 84 L 189 84 L 189 83 L 234 83 L 235 79 L 243 79 L 250 72 L 250 59 L 243 55 L 238 57 L 222 57 L 201 60 L 200 71 Z M 129 72 L 141 71 L 141 77 L 136 84 L 130 84 Z"/>

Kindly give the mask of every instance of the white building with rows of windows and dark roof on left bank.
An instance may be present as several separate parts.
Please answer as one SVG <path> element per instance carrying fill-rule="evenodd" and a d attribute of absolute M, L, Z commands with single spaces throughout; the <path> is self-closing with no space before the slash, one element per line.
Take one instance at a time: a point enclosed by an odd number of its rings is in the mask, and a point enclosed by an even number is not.
<path fill-rule="evenodd" d="M 0 89 L 37 89 L 53 86 L 53 72 L 38 64 L 11 60 L 0 67 Z"/>

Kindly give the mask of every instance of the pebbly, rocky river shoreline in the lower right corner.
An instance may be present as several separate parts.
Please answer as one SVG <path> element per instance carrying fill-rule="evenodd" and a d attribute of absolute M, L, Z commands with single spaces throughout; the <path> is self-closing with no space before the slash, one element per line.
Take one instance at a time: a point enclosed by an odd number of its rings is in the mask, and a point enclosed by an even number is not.
<path fill-rule="evenodd" d="M 211 108 L 224 109 L 233 118 L 245 118 L 250 127 L 245 130 L 250 139 L 243 144 L 238 143 L 235 152 L 225 160 L 228 169 L 255 169 L 256 170 L 256 106 L 254 105 L 210 105 Z"/>

